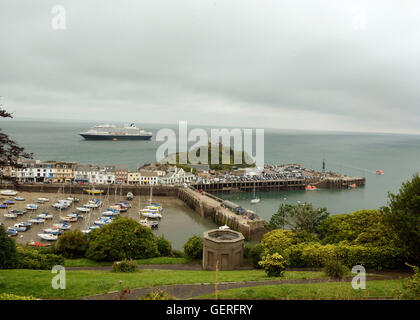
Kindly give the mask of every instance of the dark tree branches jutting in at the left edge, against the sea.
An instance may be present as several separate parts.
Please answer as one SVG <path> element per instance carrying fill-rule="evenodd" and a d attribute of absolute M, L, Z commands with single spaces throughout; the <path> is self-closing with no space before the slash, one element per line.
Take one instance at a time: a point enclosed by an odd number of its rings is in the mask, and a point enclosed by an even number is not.
<path fill-rule="evenodd" d="M 3 109 L 3 105 L 0 104 L 0 117 L 1 118 L 13 118 L 12 114 Z M 24 152 L 24 148 L 19 147 L 16 142 L 11 140 L 9 136 L 0 129 L 0 168 L 7 166 L 19 168 L 19 158 L 30 159 L 32 153 Z M 4 180 L 16 182 L 13 177 L 2 176 Z"/>

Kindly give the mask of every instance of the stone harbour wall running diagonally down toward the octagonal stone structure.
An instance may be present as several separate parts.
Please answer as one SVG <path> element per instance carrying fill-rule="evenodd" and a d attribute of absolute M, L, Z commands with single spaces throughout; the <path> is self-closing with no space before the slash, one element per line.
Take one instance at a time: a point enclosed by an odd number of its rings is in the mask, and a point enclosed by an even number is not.
<path fill-rule="evenodd" d="M 260 240 L 265 232 L 262 219 L 251 220 L 237 215 L 222 206 L 222 199 L 207 192 L 200 193 L 194 188 L 179 188 L 178 198 L 202 217 L 212 219 L 218 225 L 227 225 L 251 241 Z"/>

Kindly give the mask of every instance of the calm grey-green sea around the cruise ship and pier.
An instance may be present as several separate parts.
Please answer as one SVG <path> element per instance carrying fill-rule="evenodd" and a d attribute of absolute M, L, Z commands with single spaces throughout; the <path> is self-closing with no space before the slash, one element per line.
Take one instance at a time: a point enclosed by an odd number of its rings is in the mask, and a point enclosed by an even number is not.
<path fill-rule="evenodd" d="M 85 141 L 77 133 L 97 123 L 37 122 L 15 119 L 0 120 L 0 127 L 36 159 L 68 160 L 80 163 L 138 165 L 155 161 L 160 142 L 152 141 Z M 162 125 L 141 125 L 154 133 Z M 176 124 L 174 124 L 176 127 Z M 189 126 L 192 129 L 192 126 Z M 281 201 L 312 202 L 327 207 L 331 213 L 377 208 L 386 204 L 387 192 L 395 192 L 401 182 L 420 171 L 420 136 L 392 134 L 320 133 L 304 131 L 265 131 L 266 163 L 301 163 L 321 170 L 326 159 L 327 170 L 366 176 L 366 186 L 357 190 L 316 192 L 260 193 L 256 210 L 269 218 Z M 385 175 L 378 176 L 381 169 Z M 223 195 L 224 198 L 251 208 L 251 194 Z"/>

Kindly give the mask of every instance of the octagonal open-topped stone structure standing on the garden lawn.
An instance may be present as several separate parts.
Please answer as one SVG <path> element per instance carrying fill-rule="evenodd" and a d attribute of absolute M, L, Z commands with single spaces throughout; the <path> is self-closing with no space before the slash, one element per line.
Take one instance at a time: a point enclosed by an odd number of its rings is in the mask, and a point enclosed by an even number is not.
<path fill-rule="evenodd" d="M 244 236 L 230 229 L 213 229 L 204 232 L 203 269 L 232 270 L 242 265 Z"/>

